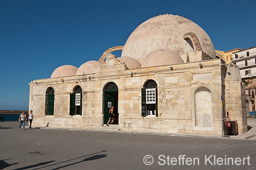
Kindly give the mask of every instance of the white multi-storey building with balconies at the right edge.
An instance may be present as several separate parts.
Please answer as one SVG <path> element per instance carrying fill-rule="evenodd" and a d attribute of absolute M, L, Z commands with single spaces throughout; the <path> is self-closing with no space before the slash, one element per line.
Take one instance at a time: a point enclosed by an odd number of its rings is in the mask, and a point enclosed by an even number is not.
<path fill-rule="evenodd" d="M 256 46 L 234 52 L 232 63 L 238 65 L 243 82 L 246 85 L 246 96 L 249 102 L 249 111 L 255 111 L 256 93 Z"/>

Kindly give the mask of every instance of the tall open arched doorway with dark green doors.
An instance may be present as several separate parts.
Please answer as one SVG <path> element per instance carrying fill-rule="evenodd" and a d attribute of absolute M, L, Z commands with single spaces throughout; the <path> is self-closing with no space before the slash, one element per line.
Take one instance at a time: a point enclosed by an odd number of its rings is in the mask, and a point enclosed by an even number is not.
<path fill-rule="evenodd" d="M 104 124 L 109 121 L 109 110 L 114 106 L 114 124 L 118 124 L 118 87 L 114 82 L 109 82 L 104 88 Z"/>

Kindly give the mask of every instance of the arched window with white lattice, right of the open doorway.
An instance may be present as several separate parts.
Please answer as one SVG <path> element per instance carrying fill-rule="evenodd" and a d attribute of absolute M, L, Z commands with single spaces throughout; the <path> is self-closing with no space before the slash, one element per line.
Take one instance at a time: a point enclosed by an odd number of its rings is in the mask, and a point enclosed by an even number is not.
<path fill-rule="evenodd" d="M 158 89 L 154 80 L 148 80 L 141 89 L 142 117 L 158 117 Z"/>

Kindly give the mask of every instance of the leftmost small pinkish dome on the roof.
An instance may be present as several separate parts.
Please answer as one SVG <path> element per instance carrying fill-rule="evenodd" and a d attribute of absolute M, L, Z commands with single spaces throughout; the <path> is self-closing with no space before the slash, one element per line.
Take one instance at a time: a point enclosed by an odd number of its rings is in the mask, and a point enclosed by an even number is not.
<path fill-rule="evenodd" d="M 63 65 L 55 69 L 52 72 L 51 78 L 75 76 L 77 67 L 73 65 Z"/>

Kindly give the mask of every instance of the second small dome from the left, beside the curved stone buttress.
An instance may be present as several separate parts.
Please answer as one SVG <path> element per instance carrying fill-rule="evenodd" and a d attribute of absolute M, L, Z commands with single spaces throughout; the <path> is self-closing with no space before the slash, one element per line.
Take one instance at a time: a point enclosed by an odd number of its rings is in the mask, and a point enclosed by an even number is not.
<path fill-rule="evenodd" d="M 95 73 L 98 66 L 101 64 L 100 61 L 87 61 L 77 69 L 76 75 Z"/>

